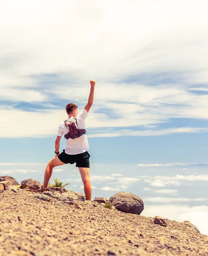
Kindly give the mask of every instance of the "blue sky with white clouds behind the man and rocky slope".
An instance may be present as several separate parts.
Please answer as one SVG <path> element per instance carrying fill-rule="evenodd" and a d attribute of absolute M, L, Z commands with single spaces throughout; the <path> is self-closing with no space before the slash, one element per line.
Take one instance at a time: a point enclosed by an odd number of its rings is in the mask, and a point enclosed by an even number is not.
<path fill-rule="evenodd" d="M 83 109 L 94 79 L 92 198 L 131 192 L 142 215 L 208 235 L 207 9 L 206 0 L 0 2 L 0 175 L 43 182 L 65 106 Z M 75 165 L 52 177 L 84 193 Z"/>

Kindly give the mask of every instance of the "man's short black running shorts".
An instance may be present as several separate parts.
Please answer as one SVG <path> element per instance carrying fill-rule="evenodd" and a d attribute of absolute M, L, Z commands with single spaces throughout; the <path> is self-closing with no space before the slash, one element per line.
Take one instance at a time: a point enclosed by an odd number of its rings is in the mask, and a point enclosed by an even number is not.
<path fill-rule="evenodd" d="M 90 168 L 90 154 L 87 151 L 81 154 L 69 155 L 63 150 L 58 158 L 63 163 L 76 163 L 76 167 Z"/>

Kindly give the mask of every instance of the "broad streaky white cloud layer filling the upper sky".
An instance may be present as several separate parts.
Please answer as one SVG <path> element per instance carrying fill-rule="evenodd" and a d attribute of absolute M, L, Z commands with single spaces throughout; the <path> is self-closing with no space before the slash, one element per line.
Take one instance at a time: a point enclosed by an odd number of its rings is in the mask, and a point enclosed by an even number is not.
<path fill-rule="evenodd" d="M 205 0 L 4 2 L 0 136 L 54 136 L 64 104 L 87 103 L 90 79 L 89 137 L 207 132 L 171 122 L 208 119 L 206 9 Z"/>

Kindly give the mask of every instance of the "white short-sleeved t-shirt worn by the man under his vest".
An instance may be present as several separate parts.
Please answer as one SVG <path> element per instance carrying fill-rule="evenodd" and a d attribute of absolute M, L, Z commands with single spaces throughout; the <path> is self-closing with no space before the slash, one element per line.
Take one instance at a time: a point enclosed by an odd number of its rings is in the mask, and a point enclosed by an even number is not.
<path fill-rule="evenodd" d="M 77 126 L 79 129 L 85 129 L 85 119 L 87 118 L 88 112 L 86 109 L 83 109 L 81 113 L 79 113 L 77 118 Z M 70 118 L 69 118 L 70 119 Z M 64 121 L 58 127 L 58 136 L 67 134 L 69 132 L 68 128 L 64 124 Z M 66 140 L 66 154 L 81 154 L 89 149 L 89 144 L 87 140 L 86 134 L 83 134 L 81 137 L 75 139 Z"/>

